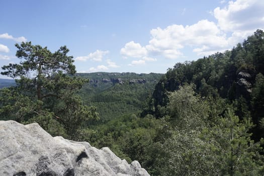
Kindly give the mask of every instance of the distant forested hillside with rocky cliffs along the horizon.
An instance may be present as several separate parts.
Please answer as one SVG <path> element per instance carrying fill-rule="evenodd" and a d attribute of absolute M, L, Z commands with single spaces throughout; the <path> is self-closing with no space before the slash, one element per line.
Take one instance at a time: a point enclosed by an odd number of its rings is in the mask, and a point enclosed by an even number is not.
<path fill-rule="evenodd" d="M 128 113 L 140 113 L 145 100 L 153 93 L 159 73 L 77 73 L 88 78 L 80 95 L 83 102 L 97 107 L 100 121 L 108 121 Z"/>

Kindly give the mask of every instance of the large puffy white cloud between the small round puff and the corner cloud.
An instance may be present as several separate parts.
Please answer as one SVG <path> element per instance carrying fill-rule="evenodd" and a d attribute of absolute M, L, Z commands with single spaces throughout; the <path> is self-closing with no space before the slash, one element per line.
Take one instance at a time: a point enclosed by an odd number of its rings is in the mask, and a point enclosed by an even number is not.
<path fill-rule="evenodd" d="M 162 55 L 169 59 L 183 56 L 181 49 L 195 47 L 194 52 L 213 53 L 216 48 L 229 47 L 226 35 L 214 22 L 201 20 L 191 26 L 170 25 L 165 29 L 156 28 L 150 31 L 152 39 L 146 49 L 153 55 Z M 201 47 L 202 46 L 202 47 Z"/>

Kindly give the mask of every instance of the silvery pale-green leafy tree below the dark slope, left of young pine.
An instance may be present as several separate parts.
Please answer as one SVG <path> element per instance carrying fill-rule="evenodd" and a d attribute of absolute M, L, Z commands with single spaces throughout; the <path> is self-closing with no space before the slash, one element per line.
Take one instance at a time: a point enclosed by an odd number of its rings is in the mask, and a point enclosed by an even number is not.
<path fill-rule="evenodd" d="M 203 164 L 205 158 L 200 147 L 203 141 L 199 139 L 206 125 L 208 108 L 194 89 L 194 84 L 180 86 L 178 91 L 168 95 L 167 125 L 170 128 L 163 128 L 163 133 L 169 135 L 163 136 L 163 142 L 157 141 L 163 153 L 161 175 L 200 175 L 210 166 Z"/>

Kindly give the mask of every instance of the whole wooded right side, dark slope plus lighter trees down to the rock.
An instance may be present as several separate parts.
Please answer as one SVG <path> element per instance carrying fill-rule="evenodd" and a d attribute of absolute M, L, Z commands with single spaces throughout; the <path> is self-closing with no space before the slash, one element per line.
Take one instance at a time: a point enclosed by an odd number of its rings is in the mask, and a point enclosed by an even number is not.
<path fill-rule="evenodd" d="M 148 106 L 95 126 L 87 140 L 152 175 L 262 175 L 264 33 L 231 51 L 176 63 Z"/>

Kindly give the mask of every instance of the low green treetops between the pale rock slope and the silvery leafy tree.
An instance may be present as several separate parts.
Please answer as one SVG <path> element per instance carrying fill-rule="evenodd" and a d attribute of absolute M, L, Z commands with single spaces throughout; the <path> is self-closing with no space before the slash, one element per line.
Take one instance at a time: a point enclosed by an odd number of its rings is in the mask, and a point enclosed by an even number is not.
<path fill-rule="evenodd" d="M 139 118 L 135 114 L 117 117 L 105 124 L 90 126 L 92 135 L 83 136 L 83 140 L 90 141 L 92 145 L 110 147 L 122 159 L 128 162 L 138 160 L 142 167 L 155 169 L 154 163 L 158 159 L 152 151 L 156 128 L 160 120 L 148 115 Z"/>

